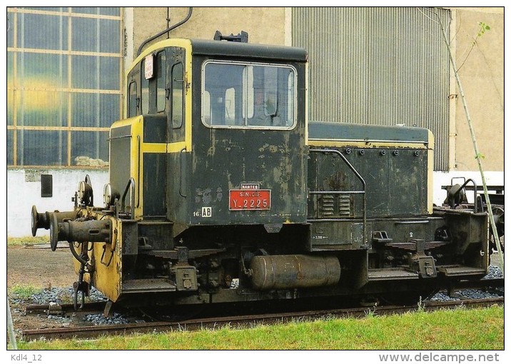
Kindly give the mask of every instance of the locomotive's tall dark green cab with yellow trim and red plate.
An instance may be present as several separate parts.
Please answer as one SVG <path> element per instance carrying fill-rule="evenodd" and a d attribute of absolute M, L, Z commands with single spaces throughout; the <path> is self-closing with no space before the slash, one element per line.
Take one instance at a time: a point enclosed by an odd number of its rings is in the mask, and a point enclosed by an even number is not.
<path fill-rule="evenodd" d="M 305 223 L 305 67 L 296 49 L 149 48 L 128 73 L 128 119 L 112 126 L 111 190 L 120 196 L 134 178 L 136 218 L 171 221 L 174 237 L 198 225 Z"/>

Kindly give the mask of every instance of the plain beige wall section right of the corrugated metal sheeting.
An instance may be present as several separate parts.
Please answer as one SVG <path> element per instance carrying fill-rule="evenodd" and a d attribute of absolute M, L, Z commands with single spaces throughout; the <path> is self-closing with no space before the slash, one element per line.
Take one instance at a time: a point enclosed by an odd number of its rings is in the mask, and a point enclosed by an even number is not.
<path fill-rule="evenodd" d="M 455 55 L 462 88 L 474 125 L 477 146 L 485 156 L 485 171 L 504 171 L 504 9 L 455 8 L 452 28 L 456 29 Z M 480 22 L 490 26 L 482 36 Z M 472 48 L 472 42 L 477 44 Z M 469 54 L 470 52 L 470 54 Z M 455 148 L 452 171 L 477 171 L 470 129 L 459 90 L 454 123 Z M 452 130 L 451 129 L 451 130 Z M 503 183 L 503 181 L 502 181 Z"/>

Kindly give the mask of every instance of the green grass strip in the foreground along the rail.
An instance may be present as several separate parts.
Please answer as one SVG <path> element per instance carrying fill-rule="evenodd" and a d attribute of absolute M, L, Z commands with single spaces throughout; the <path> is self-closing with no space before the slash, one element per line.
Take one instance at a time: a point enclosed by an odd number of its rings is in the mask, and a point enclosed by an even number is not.
<path fill-rule="evenodd" d="M 18 343 L 21 350 L 503 350 L 504 308 Z"/>

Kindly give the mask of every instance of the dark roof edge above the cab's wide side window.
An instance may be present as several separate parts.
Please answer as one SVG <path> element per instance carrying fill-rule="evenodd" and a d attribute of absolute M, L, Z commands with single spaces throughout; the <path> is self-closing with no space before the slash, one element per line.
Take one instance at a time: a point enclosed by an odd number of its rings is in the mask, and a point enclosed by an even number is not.
<path fill-rule="evenodd" d="M 191 44 L 192 54 L 194 55 L 250 57 L 299 62 L 305 62 L 308 59 L 307 51 L 298 47 L 269 46 L 237 41 L 206 41 L 203 39 L 192 39 Z"/>

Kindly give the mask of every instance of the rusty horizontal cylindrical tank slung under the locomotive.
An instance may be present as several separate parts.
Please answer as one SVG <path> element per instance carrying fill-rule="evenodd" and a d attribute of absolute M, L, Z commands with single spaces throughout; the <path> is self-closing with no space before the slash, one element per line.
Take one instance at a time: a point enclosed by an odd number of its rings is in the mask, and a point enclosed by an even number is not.
<path fill-rule="evenodd" d="M 335 256 L 255 256 L 251 270 L 256 290 L 320 287 L 340 279 Z"/>

